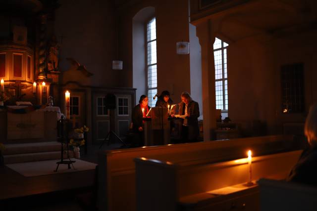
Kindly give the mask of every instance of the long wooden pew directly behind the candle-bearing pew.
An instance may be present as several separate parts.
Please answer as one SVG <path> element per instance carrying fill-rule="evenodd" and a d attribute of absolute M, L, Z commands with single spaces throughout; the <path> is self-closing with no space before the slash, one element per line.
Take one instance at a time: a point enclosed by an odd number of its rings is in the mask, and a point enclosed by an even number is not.
<path fill-rule="evenodd" d="M 241 158 L 250 148 L 263 155 L 291 150 L 297 145 L 292 135 L 274 135 L 100 151 L 98 208 L 100 211 L 136 210 L 134 158 L 194 164 Z"/>

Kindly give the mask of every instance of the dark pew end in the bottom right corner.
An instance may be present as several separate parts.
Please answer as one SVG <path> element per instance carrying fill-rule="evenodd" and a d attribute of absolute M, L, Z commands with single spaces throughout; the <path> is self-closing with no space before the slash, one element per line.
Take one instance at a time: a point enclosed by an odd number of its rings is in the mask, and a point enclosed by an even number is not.
<path fill-rule="evenodd" d="M 316 211 L 317 187 L 260 179 L 261 211 Z"/>

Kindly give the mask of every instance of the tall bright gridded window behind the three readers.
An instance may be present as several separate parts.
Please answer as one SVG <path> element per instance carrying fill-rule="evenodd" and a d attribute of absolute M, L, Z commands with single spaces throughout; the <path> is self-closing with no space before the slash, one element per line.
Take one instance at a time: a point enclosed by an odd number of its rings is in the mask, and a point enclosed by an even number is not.
<path fill-rule="evenodd" d="M 156 19 L 152 18 L 147 22 L 147 80 L 149 106 L 154 107 L 156 100 L 153 97 L 158 92 L 157 75 L 157 30 Z"/>

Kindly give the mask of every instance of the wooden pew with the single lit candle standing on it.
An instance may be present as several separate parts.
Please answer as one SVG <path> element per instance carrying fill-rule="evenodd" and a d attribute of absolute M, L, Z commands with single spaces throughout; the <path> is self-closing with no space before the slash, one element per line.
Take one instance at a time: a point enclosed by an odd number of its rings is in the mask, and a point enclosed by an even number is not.
<path fill-rule="evenodd" d="M 285 178 L 301 152 L 297 150 L 254 157 L 252 178 Z M 136 158 L 135 163 L 138 211 L 260 209 L 258 186 L 247 188 L 243 185 L 249 179 L 246 158 L 195 164 Z M 232 189 L 237 191 L 225 195 L 207 193 L 216 189 L 221 189 L 216 193 Z"/>

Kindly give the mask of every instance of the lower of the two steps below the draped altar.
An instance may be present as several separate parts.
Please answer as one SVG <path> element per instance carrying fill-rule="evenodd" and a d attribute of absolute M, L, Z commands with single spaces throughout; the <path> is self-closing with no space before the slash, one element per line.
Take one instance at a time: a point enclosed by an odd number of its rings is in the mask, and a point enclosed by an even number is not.
<path fill-rule="evenodd" d="M 69 157 L 73 158 L 73 151 L 69 150 L 68 152 L 69 152 Z M 4 155 L 3 158 L 4 158 L 4 164 L 54 160 L 54 159 L 60 159 L 60 151 Z M 64 159 L 67 158 L 66 151 L 64 151 L 63 158 Z"/>

